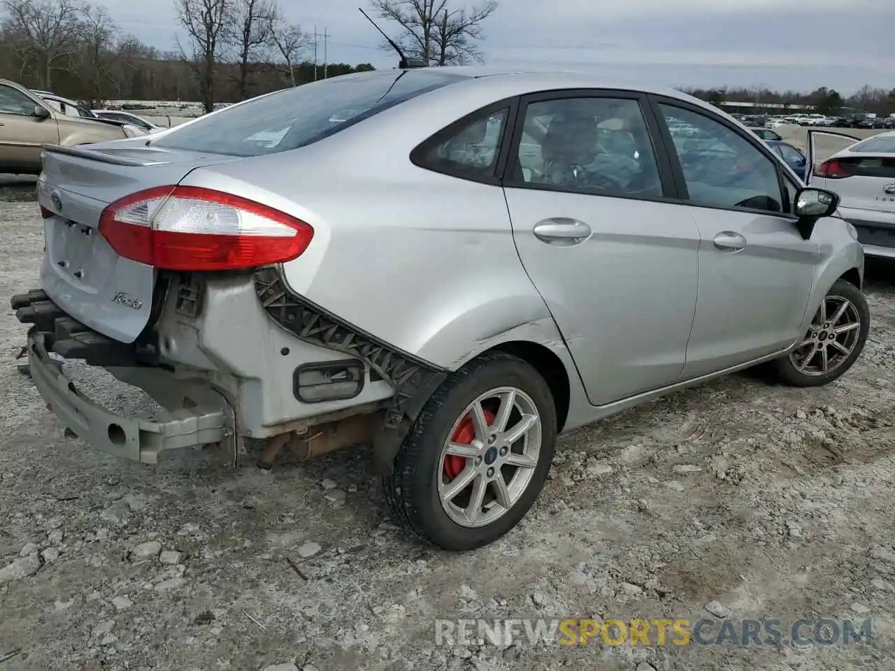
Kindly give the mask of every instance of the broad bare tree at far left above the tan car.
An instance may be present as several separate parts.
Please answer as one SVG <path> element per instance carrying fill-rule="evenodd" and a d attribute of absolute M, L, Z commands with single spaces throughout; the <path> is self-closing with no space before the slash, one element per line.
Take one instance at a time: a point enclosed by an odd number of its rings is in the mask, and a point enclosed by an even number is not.
<path fill-rule="evenodd" d="M 80 0 L 3 0 L 4 30 L 16 35 L 22 67 L 33 70 L 42 89 L 53 86 L 53 72 L 71 63 L 78 46 Z"/>

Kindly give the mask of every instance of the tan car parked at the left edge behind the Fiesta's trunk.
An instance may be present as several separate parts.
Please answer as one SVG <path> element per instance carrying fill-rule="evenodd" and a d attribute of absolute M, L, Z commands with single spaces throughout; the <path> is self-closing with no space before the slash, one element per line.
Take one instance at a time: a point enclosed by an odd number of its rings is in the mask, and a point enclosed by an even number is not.
<path fill-rule="evenodd" d="M 39 174 L 40 147 L 132 137 L 125 127 L 64 115 L 13 81 L 0 80 L 0 173 Z"/>

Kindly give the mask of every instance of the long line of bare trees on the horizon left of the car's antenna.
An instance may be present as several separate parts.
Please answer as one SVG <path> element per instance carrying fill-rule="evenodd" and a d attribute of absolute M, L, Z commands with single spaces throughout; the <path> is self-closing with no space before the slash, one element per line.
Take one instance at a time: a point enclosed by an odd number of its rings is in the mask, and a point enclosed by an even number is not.
<path fill-rule="evenodd" d="M 164 51 L 121 30 L 101 4 L 2 0 L 0 77 L 91 106 L 110 98 L 199 100 L 210 111 L 216 102 L 324 76 L 309 60 L 313 36 L 277 0 L 174 2 L 184 38 Z M 497 3 L 467 9 L 456 0 L 370 0 L 370 8 L 405 55 L 448 65 L 481 62 L 482 23 Z M 326 74 L 372 69 L 328 64 Z"/>

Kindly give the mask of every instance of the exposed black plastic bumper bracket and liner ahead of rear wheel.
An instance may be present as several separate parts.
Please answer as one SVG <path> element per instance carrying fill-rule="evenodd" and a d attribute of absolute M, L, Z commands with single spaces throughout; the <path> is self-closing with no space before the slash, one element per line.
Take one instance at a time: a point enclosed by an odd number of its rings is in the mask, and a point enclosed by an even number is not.
<path fill-rule="evenodd" d="M 385 420 L 373 431 L 373 462 L 381 474 L 395 469 L 395 455 L 413 421 L 449 371 L 402 352 L 289 290 L 279 267 L 255 271 L 255 291 L 271 319 L 306 343 L 345 352 L 395 388 Z"/>

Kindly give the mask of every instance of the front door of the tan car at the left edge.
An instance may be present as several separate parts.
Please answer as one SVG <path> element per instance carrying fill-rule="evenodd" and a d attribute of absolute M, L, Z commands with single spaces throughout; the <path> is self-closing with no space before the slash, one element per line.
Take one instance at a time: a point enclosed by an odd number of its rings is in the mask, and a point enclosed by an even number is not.
<path fill-rule="evenodd" d="M 52 117 L 34 114 L 37 101 L 19 89 L 0 84 L 0 166 L 34 170 L 40 167 L 40 146 L 59 141 Z"/>

